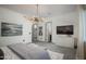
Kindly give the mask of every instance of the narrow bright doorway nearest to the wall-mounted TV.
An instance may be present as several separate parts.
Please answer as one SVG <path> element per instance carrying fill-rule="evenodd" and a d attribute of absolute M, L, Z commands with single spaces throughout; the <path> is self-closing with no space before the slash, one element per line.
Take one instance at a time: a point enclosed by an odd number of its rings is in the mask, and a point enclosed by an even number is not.
<path fill-rule="evenodd" d="M 46 36 L 45 36 L 45 40 L 46 42 L 52 42 L 52 23 L 51 22 L 47 22 L 46 23 L 46 31 L 45 31 Z"/>

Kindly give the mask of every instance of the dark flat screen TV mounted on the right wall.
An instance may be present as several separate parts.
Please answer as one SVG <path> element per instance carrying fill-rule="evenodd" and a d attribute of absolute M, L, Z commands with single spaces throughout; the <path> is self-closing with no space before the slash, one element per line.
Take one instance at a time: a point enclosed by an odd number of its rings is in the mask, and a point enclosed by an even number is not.
<path fill-rule="evenodd" d="M 73 35 L 73 34 L 74 34 L 73 25 L 57 26 L 57 35 Z"/>

